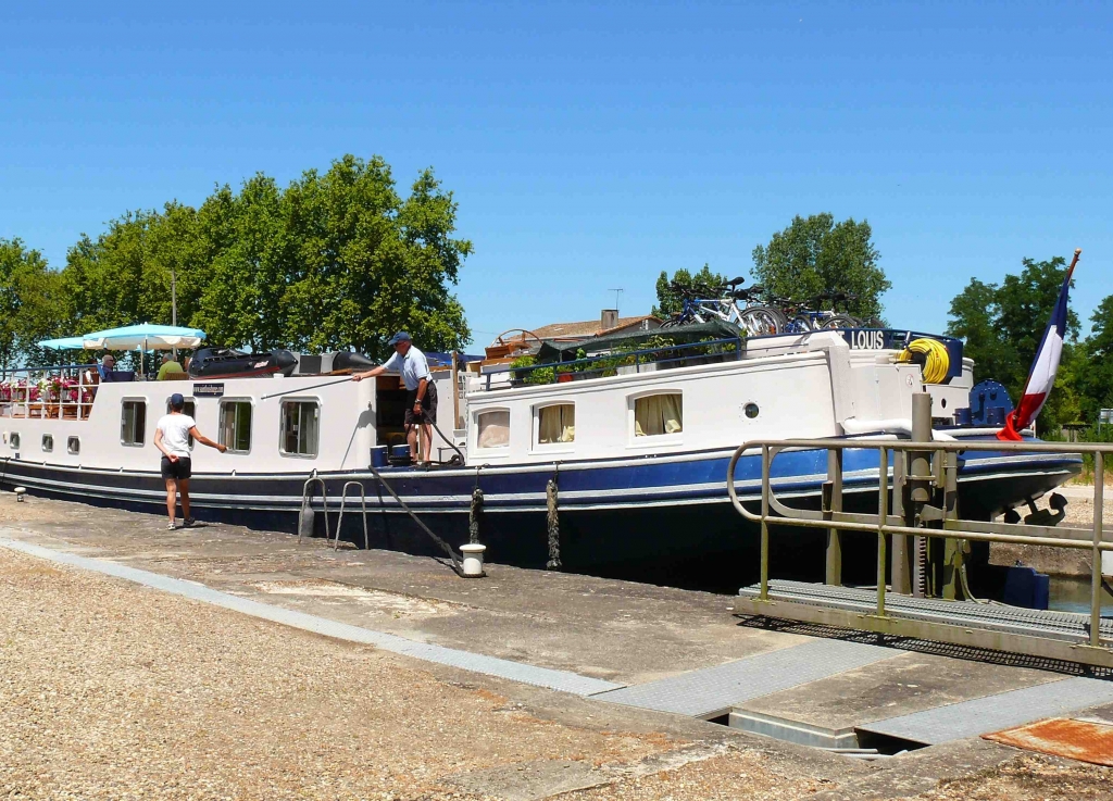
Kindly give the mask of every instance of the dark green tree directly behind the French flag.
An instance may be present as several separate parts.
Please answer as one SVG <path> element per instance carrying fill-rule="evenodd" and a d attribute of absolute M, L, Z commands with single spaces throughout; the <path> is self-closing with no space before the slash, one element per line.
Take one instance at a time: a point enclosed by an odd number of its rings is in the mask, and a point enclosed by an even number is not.
<path fill-rule="evenodd" d="M 1001 382 L 1014 403 L 1024 390 L 1066 275 L 1066 260 L 1061 256 L 1044 261 L 1025 258 L 1021 266 L 1020 275 L 1006 275 L 1001 285 L 971 278 L 951 301 L 947 324 L 947 333 L 962 338 L 964 355 L 974 359 L 975 380 Z M 1057 431 L 1082 413 L 1077 380 L 1084 370 L 1077 333 L 1077 316 L 1068 312 L 1055 387 L 1037 421 L 1043 431 Z"/>

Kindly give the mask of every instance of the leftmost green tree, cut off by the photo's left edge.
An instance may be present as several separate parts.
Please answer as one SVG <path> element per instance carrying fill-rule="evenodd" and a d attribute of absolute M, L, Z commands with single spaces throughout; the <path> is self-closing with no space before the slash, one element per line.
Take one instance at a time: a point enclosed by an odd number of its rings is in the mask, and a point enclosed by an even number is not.
<path fill-rule="evenodd" d="M 43 358 L 37 343 L 56 336 L 59 278 L 38 250 L 0 239 L 0 369 Z"/>

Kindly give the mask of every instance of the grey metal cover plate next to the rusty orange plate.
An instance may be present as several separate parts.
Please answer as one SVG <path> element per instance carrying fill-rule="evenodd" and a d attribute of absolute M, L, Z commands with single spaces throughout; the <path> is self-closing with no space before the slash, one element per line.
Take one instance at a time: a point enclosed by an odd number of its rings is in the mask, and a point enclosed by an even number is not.
<path fill-rule="evenodd" d="M 876 723 L 866 723 L 857 729 L 936 745 L 948 740 L 988 734 L 1030 723 L 1040 718 L 1056 716 L 1107 701 L 1113 701 L 1113 682 L 1100 679 L 1063 679 Z"/>

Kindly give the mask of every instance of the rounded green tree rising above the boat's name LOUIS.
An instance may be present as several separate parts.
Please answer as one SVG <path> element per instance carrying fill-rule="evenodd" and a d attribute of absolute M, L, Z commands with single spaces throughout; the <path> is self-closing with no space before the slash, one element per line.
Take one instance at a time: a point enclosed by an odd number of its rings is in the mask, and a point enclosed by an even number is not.
<path fill-rule="evenodd" d="M 823 293 L 856 295 L 851 314 L 880 318 L 881 295 L 892 286 L 877 261 L 869 222 L 834 215 L 794 217 L 768 245 L 754 248 L 754 278 L 775 295 L 807 299 Z"/>

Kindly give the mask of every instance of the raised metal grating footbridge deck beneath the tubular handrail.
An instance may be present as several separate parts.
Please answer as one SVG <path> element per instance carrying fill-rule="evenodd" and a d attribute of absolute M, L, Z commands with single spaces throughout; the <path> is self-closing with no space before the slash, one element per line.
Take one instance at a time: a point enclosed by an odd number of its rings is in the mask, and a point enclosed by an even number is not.
<path fill-rule="evenodd" d="M 759 586 L 742 587 L 742 597 L 757 597 Z M 801 603 L 811 606 L 874 614 L 877 609 L 877 591 L 855 587 L 838 587 L 827 584 L 805 582 L 771 581 L 769 599 L 786 603 Z M 975 629 L 1043 636 L 1068 642 L 1085 642 L 1090 636 L 1089 615 L 1071 612 L 1048 612 L 1017 606 L 979 604 L 969 601 L 942 601 L 939 599 L 914 599 L 895 593 L 885 594 L 885 612 L 896 617 L 918 620 L 929 623 L 947 623 Z M 1113 640 L 1113 620 L 1101 623 L 1103 640 Z"/>

